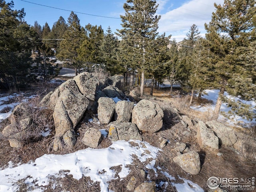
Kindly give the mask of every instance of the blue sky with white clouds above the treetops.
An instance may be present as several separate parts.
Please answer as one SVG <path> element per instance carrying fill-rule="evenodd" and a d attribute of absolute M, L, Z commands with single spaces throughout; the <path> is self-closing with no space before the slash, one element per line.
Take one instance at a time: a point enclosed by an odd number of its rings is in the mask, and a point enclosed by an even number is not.
<path fill-rule="evenodd" d="M 6 0 L 9 2 L 10 0 Z M 33 25 L 35 21 L 41 26 L 47 22 L 50 28 L 54 22 L 62 16 L 66 21 L 70 15 L 69 11 L 72 10 L 80 19 L 80 24 L 86 26 L 90 23 L 92 25 L 101 25 L 104 31 L 111 27 L 112 32 L 116 29 L 121 29 L 122 26 L 120 15 L 124 15 L 123 4 L 126 0 L 27 0 L 40 6 L 25 2 L 22 0 L 13 0 L 14 9 L 24 8 L 26 12 L 25 20 L 28 24 Z M 204 36 L 204 23 L 209 23 L 211 20 L 212 12 L 214 12 L 214 2 L 223 4 L 224 0 L 157 0 L 158 11 L 157 14 L 161 15 L 159 21 L 159 34 L 166 33 L 172 35 L 178 42 L 186 37 L 186 33 L 192 24 L 196 24 Z M 64 10 L 54 9 L 46 6 L 56 7 Z M 90 16 L 87 14 L 114 17 L 104 18 L 97 16 Z"/>

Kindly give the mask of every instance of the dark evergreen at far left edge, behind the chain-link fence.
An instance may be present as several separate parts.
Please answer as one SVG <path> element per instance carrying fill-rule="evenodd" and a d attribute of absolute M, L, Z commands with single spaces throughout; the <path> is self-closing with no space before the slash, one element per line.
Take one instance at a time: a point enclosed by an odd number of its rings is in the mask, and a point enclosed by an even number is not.
<path fill-rule="evenodd" d="M 24 9 L 13 8 L 13 1 L 0 0 L 0 88 L 24 85 L 30 68 L 33 34 L 29 25 L 22 21 Z"/>

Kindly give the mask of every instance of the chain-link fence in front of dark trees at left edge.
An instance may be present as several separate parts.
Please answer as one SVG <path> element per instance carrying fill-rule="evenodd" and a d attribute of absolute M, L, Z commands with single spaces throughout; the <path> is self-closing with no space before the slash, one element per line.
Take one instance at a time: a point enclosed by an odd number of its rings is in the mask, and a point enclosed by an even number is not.
<path fill-rule="evenodd" d="M 58 71 L 41 55 L 30 52 L 0 51 L 0 89 L 24 90 L 45 82 Z"/>

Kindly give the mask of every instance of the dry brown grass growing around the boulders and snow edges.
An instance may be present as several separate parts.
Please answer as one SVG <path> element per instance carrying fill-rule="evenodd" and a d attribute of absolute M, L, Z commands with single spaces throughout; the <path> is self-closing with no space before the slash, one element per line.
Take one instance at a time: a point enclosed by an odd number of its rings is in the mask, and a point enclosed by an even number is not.
<path fill-rule="evenodd" d="M 159 92 L 160 94 L 160 92 Z M 156 173 L 152 169 L 146 168 L 146 165 L 150 162 L 148 159 L 146 162 L 142 163 L 138 160 L 136 156 L 133 156 L 134 161 L 128 166 L 130 169 L 130 174 L 126 178 L 119 178 L 118 173 L 120 172 L 120 166 L 114 166 L 111 169 L 116 172 L 116 179 L 111 180 L 109 183 L 109 189 L 116 192 L 129 192 L 127 185 L 130 185 L 130 191 L 134 191 L 134 188 L 142 182 L 155 181 L 156 184 L 160 182 L 166 182 L 167 185 L 158 187 L 158 192 L 176 192 L 176 188 L 172 186 L 173 182 L 181 182 L 179 176 L 192 182 L 198 184 L 205 191 L 208 190 L 206 186 L 206 181 L 210 176 L 217 177 L 243 177 L 249 178 L 256 172 L 256 160 L 255 160 L 255 149 L 256 149 L 256 137 L 255 132 L 247 132 L 246 135 L 242 135 L 241 139 L 245 146 L 242 155 L 234 153 L 230 148 L 222 147 L 219 150 L 204 150 L 201 149 L 196 140 L 196 127 L 190 127 L 190 130 L 186 128 L 182 123 L 178 121 L 177 112 L 173 108 L 177 108 L 181 114 L 186 114 L 192 119 L 200 119 L 203 121 L 210 120 L 211 112 L 195 112 L 188 108 L 188 98 L 185 96 L 179 96 L 177 94 L 174 98 L 168 98 L 167 96 L 161 96 L 161 98 L 156 98 L 154 102 L 157 102 L 164 111 L 164 124 L 163 129 L 154 134 L 144 134 L 144 141 L 150 143 L 152 146 L 160 147 L 159 138 L 168 139 L 168 144 L 162 149 L 158 154 L 156 159 Z M 150 98 L 150 97 L 149 97 Z M 33 101 L 36 103 L 36 101 Z M 32 110 L 34 114 L 34 119 L 37 119 L 37 115 L 42 112 L 37 112 L 35 109 L 30 109 L 30 105 L 27 106 L 29 110 Z M 35 110 L 33 112 L 33 110 Z M 31 112 L 30 112 L 31 114 Z M 44 114 L 44 113 L 43 113 Z M 47 115 L 48 114 L 48 115 Z M 49 114 L 51 112 L 46 112 L 45 117 L 50 118 Z M 32 115 L 33 117 L 33 115 Z M 61 152 L 54 152 L 52 150 L 52 140 L 54 138 L 54 128 L 52 128 L 52 134 L 45 138 L 40 138 L 37 140 L 30 140 L 26 142 L 26 145 L 22 148 L 11 148 L 8 140 L 0 137 L 0 167 L 4 168 L 8 165 L 11 160 L 14 164 L 18 162 L 26 163 L 30 160 L 35 160 L 36 158 L 44 154 L 67 154 L 75 152 L 80 149 L 87 148 L 82 143 L 82 137 L 84 132 L 89 127 L 94 127 L 96 129 L 105 128 L 101 125 L 88 123 L 88 118 L 82 121 L 78 126 L 76 133 L 78 133 L 77 142 L 73 149 L 67 149 Z M 37 124 L 44 124 L 43 120 L 38 121 Z M 42 122 L 41 122 L 42 121 Z M 8 120 L 1 123 L 0 130 L 2 130 L 7 124 Z M 184 131 L 190 132 L 188 135 L 184 135 Z M 198 152 L 200 155 L 201 171 L 198 175 L 190 175 L 184 172 L 178 165 L 173 162 L 173 158 L 176 156 L 176 151 L 174 150 L 176 142 L 183 142 L 187 144 L 190 150 Z M 112 142 L 108 138 L 102 137 L 102 141 L 98 148 L 107 148 Z M 217 156 L 217 153 L 221 152 L 223 156 Z M 254 156 L 252 156 L 252 154 Z M 252 158 L 254 157 L 254 159 Z M 158 169 L 158 166 L 162 170 Z M 170 175 L 174 176 L 176 180 L 170 180 L 162 172 L 168 172 Z M 144 173 L 144 174 L 143 174 Z M 98 182 L 93 182 L 89 177 L 82 177 L 80 180 L 76 180 L 72 175 L 68 175 L 68 171 L 63 171 L 60 174 L 66 175 L 64 178 L 56 178 L 54 176 L 50 177 L 50 184 L 44 189 L 46 192 L 62 192 L 62 191 L 81 191 L 81 192 L 99 192 L 100 186 Z M 157 175 L 156 175 L 157 174 Z M 15 181 L 17 185 L 20 186 L 20 191 L 29 191 L 31 186 L 24 184 L 24 180 Z"/>

